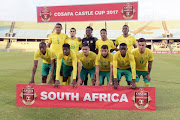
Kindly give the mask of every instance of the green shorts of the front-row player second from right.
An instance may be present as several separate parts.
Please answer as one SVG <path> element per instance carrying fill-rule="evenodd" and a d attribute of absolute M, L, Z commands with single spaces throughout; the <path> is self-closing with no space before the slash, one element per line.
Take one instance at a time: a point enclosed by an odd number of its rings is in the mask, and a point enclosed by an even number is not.
<path fill-rule="evenodd" d="M 117 69 L 117 81 L 121 80 L 121 77 L 125 75 L 126 81 L 132 81 L 131 69 Z"/>

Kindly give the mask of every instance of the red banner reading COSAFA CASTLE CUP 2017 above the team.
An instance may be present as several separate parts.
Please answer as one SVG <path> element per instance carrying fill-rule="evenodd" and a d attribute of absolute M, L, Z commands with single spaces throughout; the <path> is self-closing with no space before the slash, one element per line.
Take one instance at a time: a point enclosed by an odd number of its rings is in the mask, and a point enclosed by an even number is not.
<path fill-rule="evenodd" d="M 37 7 L 38 22 L 137 19 L 138 2 Z"/>

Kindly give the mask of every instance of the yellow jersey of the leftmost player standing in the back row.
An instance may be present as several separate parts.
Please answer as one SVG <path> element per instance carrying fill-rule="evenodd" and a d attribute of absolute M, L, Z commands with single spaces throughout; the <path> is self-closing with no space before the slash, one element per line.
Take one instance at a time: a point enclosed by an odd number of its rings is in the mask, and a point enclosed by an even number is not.
<path fill-rule="evenodd" d="M 60 34 L 56 34 L 56 33 L 52 33 L 49 36 L 49 41 L 48 43 L 52 44 L 52 49 L 54 50 L 54 52 L 56 53 L 56 56 L 58 55 L 58 53 L 60 51 L 62 51 L 62 46 L 64 44 L 64 41 L 66 39 L 68 39 L 69 37 L 64 34 L 64 33 L 60 33 Z"/>

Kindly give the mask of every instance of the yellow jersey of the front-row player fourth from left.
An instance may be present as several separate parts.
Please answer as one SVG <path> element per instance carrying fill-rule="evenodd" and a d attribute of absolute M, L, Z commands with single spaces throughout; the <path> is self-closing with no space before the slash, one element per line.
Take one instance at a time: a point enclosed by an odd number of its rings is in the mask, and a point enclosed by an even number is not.
<path fill-rule="evenodd" d="M 110 65 L 113 64 L 113 55 L 108 53 L 108 56 L 104 58 L 101 54 L 98 54 L 95 64 L 100 66 L 100 71 L 110 71 Z"/>

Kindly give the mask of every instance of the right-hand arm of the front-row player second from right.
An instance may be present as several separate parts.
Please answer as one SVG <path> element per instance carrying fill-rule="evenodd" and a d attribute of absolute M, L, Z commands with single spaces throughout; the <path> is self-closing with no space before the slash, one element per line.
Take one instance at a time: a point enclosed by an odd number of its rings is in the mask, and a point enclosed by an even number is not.
<path fill-rule="evenodd" d="M 131 71 L 132 71 L 132 88 L 135 89 L 136 88 L 136 84 L 135 84 L 135 80 L 136 80 L 136 63 L 135 63 L 133 54 L 130 54 L 129 58 L 130 58 L 130 65 L 131 65 Z"/>

